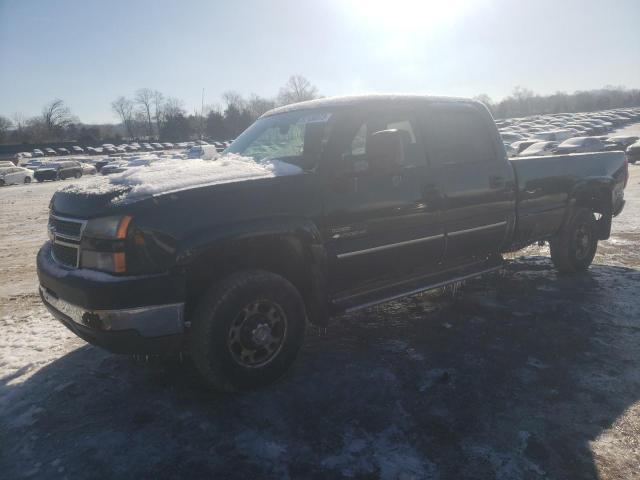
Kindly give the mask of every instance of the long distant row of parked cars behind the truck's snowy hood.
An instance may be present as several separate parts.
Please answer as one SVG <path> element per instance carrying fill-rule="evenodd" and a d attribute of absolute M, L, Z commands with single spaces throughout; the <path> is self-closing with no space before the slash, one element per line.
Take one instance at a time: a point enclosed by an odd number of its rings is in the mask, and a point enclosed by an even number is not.
<path fill-rule="evenodd" d="M 71 148 L 35 148 L 30 152 L 17 153 L 16 160 L 22 160 L 25 158 L 40 158 L 40 157 L 56 157 L 56 156 L 70 156 L 70 155 L 117 155 L 122 153 L 139 153 L 139 152 L 158 152 L 162 150 L 174 150 L 181 149 L 186 150 L 195 146 L 212 145 L 218 151 L 222 151 L 231 144 L 231 141 L 224 142 L 206 142 L 204 140 L 198 140 L 195 142 L 179 142 L 179 143 L 123 143 L 120 145 L 114 145 L 112 143 L 104 143 L 99 147 L 81 147 L 74 145 Z"/>

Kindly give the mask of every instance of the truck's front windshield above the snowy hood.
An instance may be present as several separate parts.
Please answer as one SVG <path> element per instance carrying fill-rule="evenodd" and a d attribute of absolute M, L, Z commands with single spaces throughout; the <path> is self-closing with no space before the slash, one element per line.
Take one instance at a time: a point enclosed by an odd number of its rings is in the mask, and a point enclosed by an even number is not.
<path fill-rule="evenodd" d="M 310 125 L 321 129 L 324 136 L 331 115 L 323 110 L 300 110 L 258 119 L 224 153 L 252 157 L 257 162 L 283 160 L 304 168 L 305 138 L 310 138 Z"/>

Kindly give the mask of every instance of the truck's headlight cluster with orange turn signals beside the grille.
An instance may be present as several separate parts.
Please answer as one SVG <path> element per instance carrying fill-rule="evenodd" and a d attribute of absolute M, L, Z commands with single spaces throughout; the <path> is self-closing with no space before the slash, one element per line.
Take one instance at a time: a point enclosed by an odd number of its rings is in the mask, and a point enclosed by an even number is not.
<path fill-rule="evenodd" d="M 82 234 L 80 266 L 103 272 L 125 273 L 125 242 L 131 216 L 89 220 Z"/>

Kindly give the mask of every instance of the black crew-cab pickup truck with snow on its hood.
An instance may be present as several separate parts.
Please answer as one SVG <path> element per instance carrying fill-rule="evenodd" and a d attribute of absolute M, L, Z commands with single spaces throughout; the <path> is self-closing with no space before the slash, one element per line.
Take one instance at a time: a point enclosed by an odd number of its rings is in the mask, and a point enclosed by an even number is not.
<path fill-rule="evenodd" d="M 218 159 L 172 162 L 57 192 L 40 293 L 88 342 L 186 351 L 223 390 L 280 377 L 308 321 L 504 252 L 548 241 L 560 272 L 587 269 L 628 178 L 622 152 L 508 160 L 482 104 L 415 95 L 277 108 Z"/>

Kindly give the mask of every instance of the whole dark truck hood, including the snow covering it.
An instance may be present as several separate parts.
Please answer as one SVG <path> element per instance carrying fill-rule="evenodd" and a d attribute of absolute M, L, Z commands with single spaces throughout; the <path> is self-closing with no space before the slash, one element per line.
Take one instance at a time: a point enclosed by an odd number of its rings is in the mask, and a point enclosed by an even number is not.
<path fill-rule="evenodd" d="M 158 160 L 148 166 L 131 167 L 123 173 L 69 185 L 55 193 L 51 207 L 58 214 L 91 218 L 185 190 L 301 173 L 301 168 L 286 162 L 259 163 L 238 155 L 226 155 L 215 161 Z"/>

